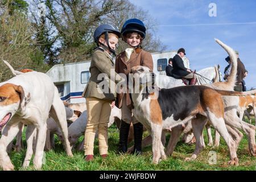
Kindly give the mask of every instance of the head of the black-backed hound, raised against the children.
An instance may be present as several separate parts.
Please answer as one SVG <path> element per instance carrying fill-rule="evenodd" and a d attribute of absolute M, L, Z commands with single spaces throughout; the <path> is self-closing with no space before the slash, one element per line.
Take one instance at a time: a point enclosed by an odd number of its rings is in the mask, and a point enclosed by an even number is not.
<path fill-rule="evenodd" d="M 143 66 L 135 66 L 131 68 L 135 83 L 139 81 L 141 86 L 154 85 L 155 73 L 151 72 L 149 68 Z"/>

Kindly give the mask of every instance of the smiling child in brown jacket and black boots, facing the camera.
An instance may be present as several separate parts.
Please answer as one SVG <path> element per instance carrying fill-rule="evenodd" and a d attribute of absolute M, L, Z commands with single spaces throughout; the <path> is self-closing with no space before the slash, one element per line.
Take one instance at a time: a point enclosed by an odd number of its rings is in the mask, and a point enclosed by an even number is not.
<path fill-rule="evenodd" d="M 146 36 L 146 27 L 139 19 L 133 18 L 126 20 L 123 24 L 122 40 L 125 41 L 129 48 L 119 53 L 115 59 L 115 72 L 124 73 L 128 75 L 131 68 L 142 65 L 150 68 L 153 71 L 153 60 L 150 52 L 142 49 L 142 41 Z M 127 151 L 127 138 L 129 135 L 129 128 L 131 122 L 134 128 L 134 150 L 133 154 L 142 154 L 142 133 L 143 125 L 131 113 L 131 99 L 129 96 L 129 89 L 126 93 L 119 93 L 115 103 L 121 108 L 122 119 L 119 130 L 119 152 Z"/>

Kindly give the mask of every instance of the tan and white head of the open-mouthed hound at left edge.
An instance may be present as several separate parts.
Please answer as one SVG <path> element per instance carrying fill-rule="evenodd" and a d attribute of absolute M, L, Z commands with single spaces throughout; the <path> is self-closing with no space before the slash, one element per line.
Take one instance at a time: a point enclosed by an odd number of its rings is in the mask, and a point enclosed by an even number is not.
<path fill-rule="evenodd" d="M 0 86 L 0 131 L 17 110 L 24 109 L 29 101 L 28 97 L 24 96 L 22 86 L 14 84 Z"/>

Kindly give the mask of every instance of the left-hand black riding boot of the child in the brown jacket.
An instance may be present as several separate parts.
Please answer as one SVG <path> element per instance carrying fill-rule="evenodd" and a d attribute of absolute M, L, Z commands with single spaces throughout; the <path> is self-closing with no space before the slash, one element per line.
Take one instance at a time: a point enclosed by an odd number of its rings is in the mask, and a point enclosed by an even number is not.
<path fill-rule="evenodd" d="M 129 129 L 130 124 L 127 124 L 125 121 L 121 120 L 121 126 L 119 130 L 119 152 L 127 152 L 127 140 L 129 135 Z"/>

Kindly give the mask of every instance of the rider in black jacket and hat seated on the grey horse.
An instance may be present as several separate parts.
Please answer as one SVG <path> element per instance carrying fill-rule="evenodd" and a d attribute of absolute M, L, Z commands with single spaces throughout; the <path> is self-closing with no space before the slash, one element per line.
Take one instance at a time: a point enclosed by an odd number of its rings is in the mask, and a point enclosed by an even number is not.
<path fill-rule="evenodd" d="M 189 80 L 189 85 L 195 85 L 197 82 L 197 78 L 195 74 L 191 71 L 191 69 L 187 69 L 184 67 L 184 63 L 182 60 L 184 55 L 186 55 L 185 49 L 180 48 L 172 61 L 172 67 L 174 68 L 172 70 L 172 73 L 177 75 L 179 78 Z"/>

